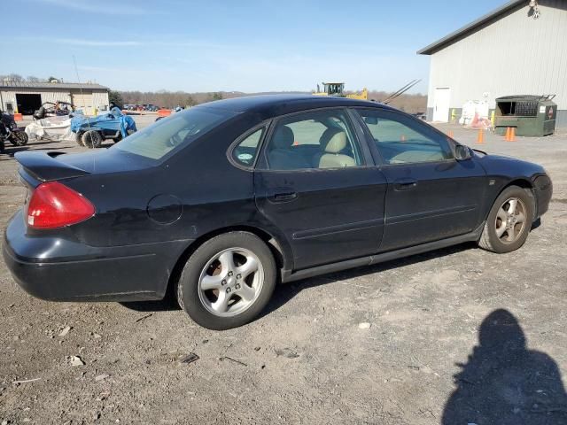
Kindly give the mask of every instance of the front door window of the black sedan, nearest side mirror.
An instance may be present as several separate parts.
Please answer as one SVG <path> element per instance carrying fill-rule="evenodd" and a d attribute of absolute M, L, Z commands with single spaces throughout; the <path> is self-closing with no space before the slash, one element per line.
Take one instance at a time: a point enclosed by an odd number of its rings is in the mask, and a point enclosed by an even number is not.
<path fill-rule="evenodd" d="M 386 164 L 439 162 L 454 158 L 446 138 L 397 112 L 357 110 Z"/>

